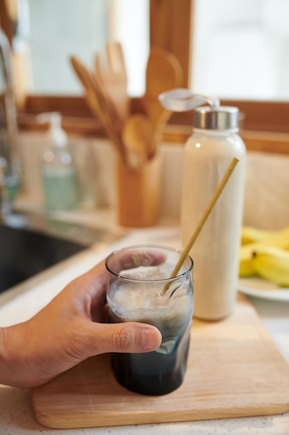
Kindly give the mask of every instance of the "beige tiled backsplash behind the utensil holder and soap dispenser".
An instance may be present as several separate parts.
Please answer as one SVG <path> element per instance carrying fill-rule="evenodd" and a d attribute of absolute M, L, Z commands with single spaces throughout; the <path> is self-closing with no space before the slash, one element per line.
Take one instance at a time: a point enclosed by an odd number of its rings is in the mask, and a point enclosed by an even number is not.
<path fill-rule="evenodd" d="M 49 145 L 43 133 L 21 133 L 25 198 L 42 204 L 40 162 Z M 115 202 L 114 150 L 109 140 L 70 138 L 71 151 L 89 197 L 100 206 Z M 163 144 L 161 213 L 179 218 L 182 188 L 182 146 Z M 289 155 L 248 152 L 244 223 L 278 229 L 289 225 Z"/>

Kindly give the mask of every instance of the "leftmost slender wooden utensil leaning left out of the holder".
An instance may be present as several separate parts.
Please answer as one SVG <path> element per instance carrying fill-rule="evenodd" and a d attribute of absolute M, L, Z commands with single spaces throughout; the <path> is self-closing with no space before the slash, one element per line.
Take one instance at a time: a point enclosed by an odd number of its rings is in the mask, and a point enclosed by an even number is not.
<path fill-rule="evenodd" d="M 103 122 L 108 136 L 114 143 L 116 150 L 121 155 L 124 163 L 126 163 L 126 152 L 123 142 L 121 140 L 121 135 L 117 128 L 116 115 L 114 115 L 114 110 L 110 106 L 110 102 L 105 99 L 103 92 L 101 92 L 101 85 L 98 83 L 98 79 L 92 76 L 89 70 L 83 65 L 76 56 L 71 56 L 71 65 L 78 76 L 78 79 L 82 83 L 86 91 L 87 104 L 89 108 L 96 117 L 100 117 Z"/>

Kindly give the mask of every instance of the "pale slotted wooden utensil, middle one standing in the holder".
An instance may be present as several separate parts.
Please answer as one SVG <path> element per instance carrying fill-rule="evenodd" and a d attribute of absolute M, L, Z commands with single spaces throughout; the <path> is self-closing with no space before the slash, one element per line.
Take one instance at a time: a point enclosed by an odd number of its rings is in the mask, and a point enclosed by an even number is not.
<path fill-rule="evenodd" d="M 121 44 L 109 42 L 105 54 L 96 54 L 95 67 L 99 81 L 114 104 L 119 119 L 124 121 L 130 113 L 130 98 Z"/>

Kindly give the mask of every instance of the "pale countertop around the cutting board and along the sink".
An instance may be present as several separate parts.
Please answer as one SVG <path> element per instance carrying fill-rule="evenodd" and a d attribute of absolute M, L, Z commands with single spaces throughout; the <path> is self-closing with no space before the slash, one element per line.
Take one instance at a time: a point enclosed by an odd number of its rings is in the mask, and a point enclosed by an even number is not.
<path fill-rule="evenodd" d="M 155 245 L 179 246 L 179 227 L 165 224 L 164 226 L 134 230 L 111 246 L 101 250 L 90 249 L 78 254 L 77 257 L 65 263 L 65 267 L 55 269 L 54 273 L 44 275 L 40 279 L 32 279 L 27 284 L 26 292 L 17 295 L 3 306 L 0 306 L 0 326 L 12 325 L 24 321 L 46 305 L 74 277 L 82 274 L 93 265 L 105 258 L 112 249 L 138 243 L 153 243 Z M 274 302 L 265 299 L 249 298 L 259 313 L 263 325 L 276 343 L 281 354 L 289 364 L 289 302 Z M 288 435 L 289 413 L 277 416 L 255 418 L 234 418 L 227 420 L 201 420 L 195 422 L 177 422 L 153 425 L 132 425 L 123 427 L 100 427 L 91 429 L 49 429 L 38 424 L 30 405 L 28 390 L 0 385 L 0 434 L 116 434 L 145 435 L 153 434 L 194 434 L 223 435 L 234 433 Z"/>

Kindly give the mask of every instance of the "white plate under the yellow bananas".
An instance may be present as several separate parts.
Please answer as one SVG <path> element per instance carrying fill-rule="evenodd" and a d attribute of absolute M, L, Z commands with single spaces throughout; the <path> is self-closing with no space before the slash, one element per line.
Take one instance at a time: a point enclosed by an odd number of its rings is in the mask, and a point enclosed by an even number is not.
<path fill-rule="evenodd" d="M 239 279 L 238 290 L 248 296 L 289 302 L 289 288 L 281 288 L 270 281 L 261 278 Z"/>

